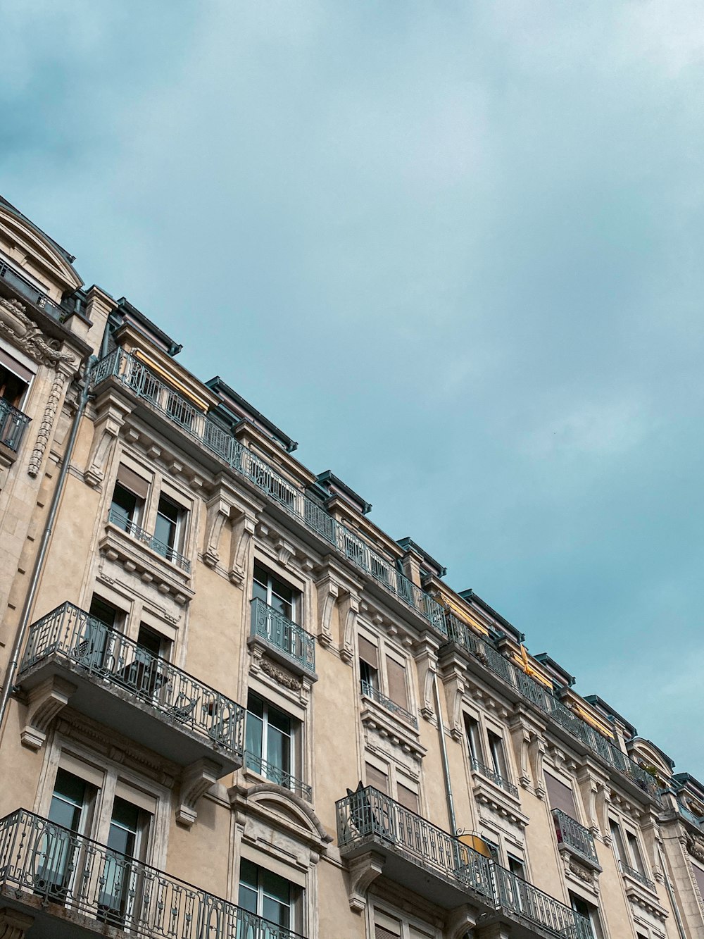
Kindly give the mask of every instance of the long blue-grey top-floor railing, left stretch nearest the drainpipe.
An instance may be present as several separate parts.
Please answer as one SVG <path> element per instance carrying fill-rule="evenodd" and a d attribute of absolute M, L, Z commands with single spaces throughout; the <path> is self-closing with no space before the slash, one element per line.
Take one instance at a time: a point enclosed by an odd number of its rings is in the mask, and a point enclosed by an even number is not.
<path fill-rule="evenodd" d="M 169 388 L 137 358 L 120 348 L 115 349 L 95 365 L 91 385 L 95 389 L 110 377 L 246 477 L 269 499 L 333 546 L 347 561 L 420 614 L 443 636 L 446 635 L 445 610 L 436 599 L 405 577 L 392 562 L 376 553 L 359 535 L 330 516 L 322 505 L 242 446 L 230 431 Z"/>

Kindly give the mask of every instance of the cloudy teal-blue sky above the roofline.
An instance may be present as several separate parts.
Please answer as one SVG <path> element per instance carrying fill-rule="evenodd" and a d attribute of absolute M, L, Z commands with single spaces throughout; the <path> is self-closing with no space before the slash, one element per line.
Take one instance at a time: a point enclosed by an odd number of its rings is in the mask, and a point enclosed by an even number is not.
<path fill-rule="evenodd" d="M 704 779 L 700 0 L 4 0 L 0 192 Z"/>

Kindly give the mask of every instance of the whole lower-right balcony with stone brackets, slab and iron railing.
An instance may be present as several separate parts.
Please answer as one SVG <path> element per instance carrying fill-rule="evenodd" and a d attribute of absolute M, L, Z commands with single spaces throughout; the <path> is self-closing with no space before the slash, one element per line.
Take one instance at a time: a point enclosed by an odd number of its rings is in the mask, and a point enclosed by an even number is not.
<path fill-rule="evenodd" d="M 592 939 L 589 922 L 569 906 L 371 786 L 337 802 L 337 836 L 353 890 L 356 880 L 369 884 L 370 871 L 383 870 L 443 909 L 472 903 L 487 923 L 508 921 L 515 939 L 532 939 L 536 932 Z"/>

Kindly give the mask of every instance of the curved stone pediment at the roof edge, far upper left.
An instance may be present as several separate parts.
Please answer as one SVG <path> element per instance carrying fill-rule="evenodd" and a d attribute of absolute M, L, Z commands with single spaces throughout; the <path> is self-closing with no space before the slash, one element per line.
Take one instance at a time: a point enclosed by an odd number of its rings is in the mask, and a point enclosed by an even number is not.
<path fill-rule="evenodd" d="M 0 250 L 55 301 L 83 286 L 63 252 L 23 215 L 0 202 Z"/>

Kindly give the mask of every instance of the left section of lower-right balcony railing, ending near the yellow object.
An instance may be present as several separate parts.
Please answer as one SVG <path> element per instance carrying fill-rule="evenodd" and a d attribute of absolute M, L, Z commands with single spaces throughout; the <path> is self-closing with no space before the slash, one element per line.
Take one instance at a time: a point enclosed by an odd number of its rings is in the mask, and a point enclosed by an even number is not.
<path fill-rule="evenodd" d="M 340 799 L 336 807 L 341 849 L 369 838 L 382 839 L 422 868 L 492 900 L 488 859 L 385 793 L 367 786 Z"/>

